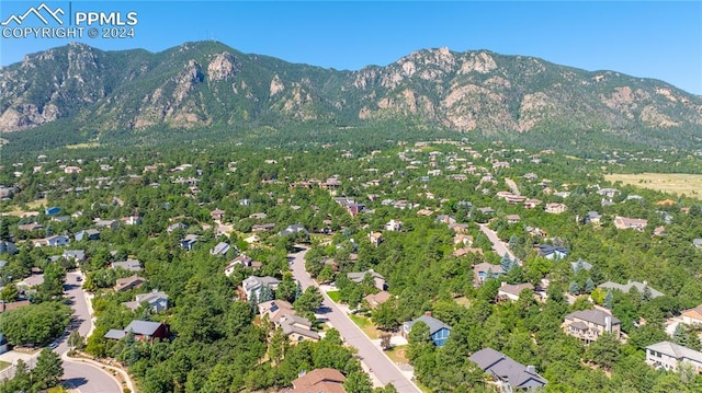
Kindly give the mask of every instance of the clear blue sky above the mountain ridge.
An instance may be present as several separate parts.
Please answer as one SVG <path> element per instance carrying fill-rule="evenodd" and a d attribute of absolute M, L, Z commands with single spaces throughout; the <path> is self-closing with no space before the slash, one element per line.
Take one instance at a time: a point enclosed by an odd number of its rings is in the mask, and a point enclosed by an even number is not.
<path fill-rule="evenodd" d="M 41 3 L 2 0 L 0 20 Z M 69 8 L 69 1 L 46 4 Z M 105 50 L 159 51 L 189 41 L 216 39 L 245 53 L 336 69 L 384 66 L 417 49 L 449 47 L 535 56 L 591 71 L 615 70 L 702 94 L 700 1 L 93 0 L 70 5 L 73 12 L 137 12 L 135 37 L 3 37 L 0 63 L 70 41 Z"/>

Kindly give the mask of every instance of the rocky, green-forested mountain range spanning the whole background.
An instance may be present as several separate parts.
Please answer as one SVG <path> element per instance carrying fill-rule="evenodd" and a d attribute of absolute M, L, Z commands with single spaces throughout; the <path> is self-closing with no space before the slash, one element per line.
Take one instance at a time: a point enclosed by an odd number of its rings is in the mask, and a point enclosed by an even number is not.
<path fill-rule="evenodd" d="M 1 72 L 3 132 L 57 120 L 87 139 L 154 127 L 401 120 L 482 135 L 567 131 L 650 145 L 702 141 L 700 96 L 658 80 L 487 50 L 426 49 L 385 67 L 339 71 L 216 42 L 157 54 L 70 44 L 29 55 Z"/>

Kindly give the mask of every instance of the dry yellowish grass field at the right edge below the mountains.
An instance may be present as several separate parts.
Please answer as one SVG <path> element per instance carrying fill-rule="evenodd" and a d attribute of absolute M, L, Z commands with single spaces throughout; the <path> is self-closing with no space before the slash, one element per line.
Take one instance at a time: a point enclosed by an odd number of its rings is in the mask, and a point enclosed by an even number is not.
<path fill-rule="evenodd" d="M 604 178 L 609 182 L 622 182 L 636 187 L 660 190 L 664 193 L 687 195 L 702 199 L 702 175 L 688 173 L 637 173 L 611 174 Z"/>

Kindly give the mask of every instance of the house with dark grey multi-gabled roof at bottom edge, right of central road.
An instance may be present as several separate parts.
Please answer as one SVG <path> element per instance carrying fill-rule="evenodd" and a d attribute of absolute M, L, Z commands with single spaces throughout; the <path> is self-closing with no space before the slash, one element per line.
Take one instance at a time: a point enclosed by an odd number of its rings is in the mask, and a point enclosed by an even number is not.
<path fill-rule="evenodd" d="M 502 392 L 533 392 L 541 390 L 548 383 L 548 381 L 536 373 L 534 366 L 523 366 L 492 348 L 480 349 L 471 355 L 468 359 L 490 375 L 491 380 L 501 388 Z"/>

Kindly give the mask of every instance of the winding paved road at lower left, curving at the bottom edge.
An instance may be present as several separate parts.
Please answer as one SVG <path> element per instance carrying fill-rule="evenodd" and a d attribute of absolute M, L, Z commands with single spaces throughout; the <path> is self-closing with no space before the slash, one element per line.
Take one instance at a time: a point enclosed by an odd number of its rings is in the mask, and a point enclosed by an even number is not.
<path fill-rule="evenodd" d="M 77 278 L 79 273 L 68 273 L 66 275 L 66 284 L 64 285 L 65 297 L 70 299 L 73 309 L 73 323 L 68 330 L 69 332 L 64 335 L 60 344 L 56 349 L 57 354 L 64 354 L 68 351 L 68 334 L 78 327 L 78 332 L 81 336 L 86 336 L 90 332 L 92 321 L 90 320 L 90 312 L 88 311 L 88 303 L 81 288 L 81 281 Z M 70 388 L 80 390 L 81 393 L 121 393 L 122 386 L 110 374 L 97 367 L 92 367 L 86 363 L 75 363 L 70 361 L 64 361 L 64 380 Z"/>

